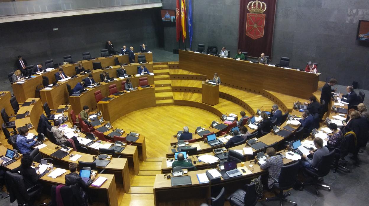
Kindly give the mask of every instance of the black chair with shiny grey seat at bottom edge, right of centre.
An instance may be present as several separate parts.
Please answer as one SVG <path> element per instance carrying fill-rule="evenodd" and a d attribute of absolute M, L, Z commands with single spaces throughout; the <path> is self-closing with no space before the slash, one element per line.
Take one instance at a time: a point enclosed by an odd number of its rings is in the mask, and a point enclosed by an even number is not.
<path fill-rule="evenodd" d="M 227 200 L 231 206 L 254 206 L 258 202 L 258 193 L 256 193 L 255 183 L 244 185 L 242 189 L 237 189 Z"/>

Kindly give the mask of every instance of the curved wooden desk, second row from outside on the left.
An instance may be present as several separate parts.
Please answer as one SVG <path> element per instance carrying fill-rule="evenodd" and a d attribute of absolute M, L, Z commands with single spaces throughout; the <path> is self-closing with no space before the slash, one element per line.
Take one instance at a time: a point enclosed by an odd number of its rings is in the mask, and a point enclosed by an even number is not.
<path fill-rule="evenodd" d="M 28 99 L 28 101 L 31 101 L 32 99 Z M 26 111 L 30 112 L 30 115 L 28 117 L 25 117 L 23 119 L 16 119 L 15 120 L 15 126 L 17 128 L 20 128 L 22 126 L 25 126 L 26 123 L 32 123 L 32 125 L 34 126 L 33 129 L 30 130 L 30 133 L 34 133 L 37 134 L 36 128 L 39 122 L 39 117 L 42 114 L 42 107 L 41 107 L 41 99 L 36 98 L 35 99 L 36 102 L 33 105 L 27 106 L 27 107 L 21 107 L 18 111 L 18 114 L 23 114 Z M 42 155 L 44 156 L 48 156 L 51 157 L 51 154 L 54 153 L 55 147 L 57 147 L 56 144 L 53 144 L 49 141 L 45 141 L 44 142 L 46 144 L 46 147 L 41 148 L 39 151 Z M 71 151 L 70 154 L 79 154 L 82 157 L 80 157 L 77 161 L 71 161 L 69 160 L 69 157 L 66 156 L 62 159 L 57 159 L 55 157 L 52 157 L 58 161 L 60 161 L 61 163 L 64 164 L 69 164 L 69 163 L 77 163 L 78 161 L 85 161 L 85 162 L 92 162 L 93 161 L 93 156 L 92 154 L 85 154 L 85 153 L 80 153 L 77 151 Z M 99 167 L 100 169 L 106 169 L 106 171 L 108 172 L 113 172 L 113 174 L 120 174 L 119 176 L 116 176 L 115 178 L 119 177 L 119 179 L 121 181 L 123 181 L 123 186 L 124 186 L 124 190 L 125 192 L 128 192 L 128 190 L 130 189 L 130 175 L 129 175 L 129 170 L 128 170 L 128 163 L 127 163 L 127 159 L 125 158 L 111 158 L 110 159 L 110 163 L 107 165 L 107 167 Z"/>

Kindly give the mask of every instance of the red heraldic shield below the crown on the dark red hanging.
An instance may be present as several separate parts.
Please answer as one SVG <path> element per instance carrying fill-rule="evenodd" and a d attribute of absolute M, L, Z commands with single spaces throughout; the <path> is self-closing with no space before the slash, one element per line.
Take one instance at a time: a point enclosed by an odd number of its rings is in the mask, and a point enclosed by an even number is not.
<path fill-rule="evenodd" d="M 246 35 L 252 39 L 264 36 L 265 14 L 247 14 Z"/>

